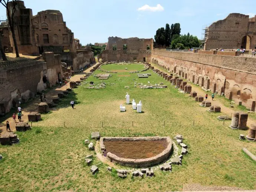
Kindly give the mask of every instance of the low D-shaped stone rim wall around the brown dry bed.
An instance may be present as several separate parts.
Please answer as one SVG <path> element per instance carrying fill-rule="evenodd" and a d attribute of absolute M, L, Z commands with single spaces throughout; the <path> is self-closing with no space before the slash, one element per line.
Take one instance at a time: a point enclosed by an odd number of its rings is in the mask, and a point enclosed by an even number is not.
<path fill-rule="evenodd" d="M 104 141 L 118 141 L 118 140 L 123 140 L 123 141 L 136 141 L 136 140 L 167 140 L 168 146 L 167 148 L 159 153 L 158 155 L 151 157 L 151 158 L 146 158 L 146 159 L 127 159 L 127 158 L 120 158 L 116 156 L 115 154 L 108 152 L 106 154 L 107 158 L 111 162 L 119 163 L 122 166 L 131 166 L 131 167 L 150 167 L 156 164 L 159 164 L 166 160 L 172 151 L 172 142 L 170 137 L 102 137 L 99 141 L 100 148 L 101 150 L 105 151 L 105 145 Z"/>

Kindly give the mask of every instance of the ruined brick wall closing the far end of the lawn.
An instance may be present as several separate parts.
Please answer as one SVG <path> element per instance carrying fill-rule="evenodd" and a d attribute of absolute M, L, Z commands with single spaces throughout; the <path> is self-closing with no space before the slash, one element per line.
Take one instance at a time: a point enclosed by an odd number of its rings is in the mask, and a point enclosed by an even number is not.
<path fill-rule="evenodd" d="M 124 50 L 124 45 L 127 46 L 127 50 Z M 153 39 L 139 39 L 138 37 L 132 37 L 128 39 L 122 39 L 120 37 L 109 37 L 106 49 L 102 51 L 103 60 L 125 60 L 133 61 L 138 60 L 140 50 L 146 50 L 147 46 L 150 50 L 153 47 Z M 113 48 L 116 47 L 116 50 Z"/>

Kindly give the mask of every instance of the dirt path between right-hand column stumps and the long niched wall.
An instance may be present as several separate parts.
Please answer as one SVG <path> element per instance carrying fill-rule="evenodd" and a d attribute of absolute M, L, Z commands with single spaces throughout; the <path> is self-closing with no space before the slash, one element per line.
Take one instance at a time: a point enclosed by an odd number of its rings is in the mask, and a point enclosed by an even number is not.
<path fill-rule="evenodd" d="M 157 65 L 155 65 L 153 63 L 150 63 L 150 64 L 151 64 L 151 66 L 154 66 L 154 69 L 159 69 L 160 71 L 164 71 L 163 69 L 161 69 L 161 67 L 158 67 Z M 171 74 L 169 72 L 165 72 L 165 73 L 168 73 L 168 75 Z M 201 87 L 195 86 L 193 83 L 188 82 L 188 81 L 187 81 L 187 83 L 192 86 L 192 91 L 196 91 L 197 95 L 201 95 L 201 96 L 205 97 L 207 92 L 205 92 L 203 89 L 201 89 Z M 211 93 L 210 94 L 208 93 L 208 100 L 211 101 L 211 105 L 219 105 L 221 107 L 221 112 L 226 113 L 226 115 L 230 116 L 231 114 L 234 113 L 233 109 L 224 106 L 220 100 L 216 99 L 216 97 L 214 97 L 214 99 L 211 100 Z M 248 117 L 247 125 L 250 125 L 253 122 L 254 122 L 253 119 Z"/>

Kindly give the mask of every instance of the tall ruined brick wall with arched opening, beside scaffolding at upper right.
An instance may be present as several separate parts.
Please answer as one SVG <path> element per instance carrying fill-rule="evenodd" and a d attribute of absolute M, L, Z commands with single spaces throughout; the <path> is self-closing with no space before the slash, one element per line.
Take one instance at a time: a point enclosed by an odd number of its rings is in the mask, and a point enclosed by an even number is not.
<path fill-rule="evenodd" d="M 236 49 L 238 47 L 247 50 L 255 49 L 255 33 L 255 17 L 249 18 L 249 15 L 230 13 L 225 19 L 212 23 L 206 29 L 204 50 Z M 247 43 L 249 42 L 247 45 L 246 39 Z"/>

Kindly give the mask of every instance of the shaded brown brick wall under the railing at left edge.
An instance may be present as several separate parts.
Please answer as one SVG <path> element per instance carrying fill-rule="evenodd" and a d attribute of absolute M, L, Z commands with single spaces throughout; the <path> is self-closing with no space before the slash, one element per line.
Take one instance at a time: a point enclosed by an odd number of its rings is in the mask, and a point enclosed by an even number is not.
<path fill-rule="evenodd" d="M 33 97 L 37 93 L 37 87 L 42 82 L 41 73 L 46 67 L 45 62 L 28 62 L 22 65 L 0 68 L 0 104 L 7 113 L 16 105 L 17 95 L 21 94 L 21 102 Z M 1 108 L 1 110 L 3 110 Z"/>

